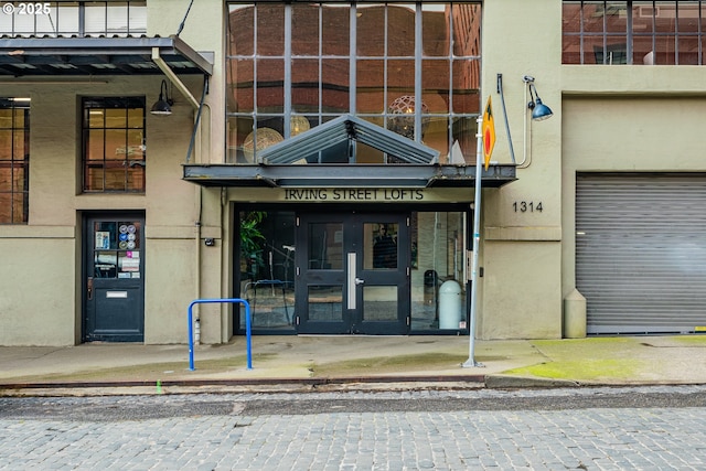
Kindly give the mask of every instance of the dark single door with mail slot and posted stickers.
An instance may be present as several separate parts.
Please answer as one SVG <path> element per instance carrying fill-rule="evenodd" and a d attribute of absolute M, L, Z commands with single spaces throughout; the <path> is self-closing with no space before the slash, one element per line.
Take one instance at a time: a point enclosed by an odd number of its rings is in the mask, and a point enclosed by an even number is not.
<path fill-rule="evenodd" d="M 85 342 L 145 340 L 145 217 L 84 220 Z"/>

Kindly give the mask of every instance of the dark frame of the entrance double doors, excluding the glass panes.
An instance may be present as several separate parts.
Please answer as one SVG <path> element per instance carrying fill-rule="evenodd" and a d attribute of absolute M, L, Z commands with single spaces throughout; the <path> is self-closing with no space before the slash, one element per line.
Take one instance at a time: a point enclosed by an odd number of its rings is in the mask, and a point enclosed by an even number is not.
<path fill-rule="evenodd" d="M 410 324 L 410 254 L 409 212 L 335 211 L 299 213 L 297 220 L 296 278 L 297 332 L 303 334 L 371 334 L 407 335 Z M 341 224 L 341 269 L 310 267 L 308 226 L 311 223 Z M 395 268 L 375 269 L 364 263 L 364 231 L 371 224 L 397 225 Z M 368 256 L 370 258 L 370 256 Z M 397 315 L 395 320 L 366 320 L 364 290 L 368 287 L 396 287 Z M 310 287 L 340 287 L 340 299 L 331 301 L 331 309 L 341 309 L 340 320 L 310 319 Z"/>

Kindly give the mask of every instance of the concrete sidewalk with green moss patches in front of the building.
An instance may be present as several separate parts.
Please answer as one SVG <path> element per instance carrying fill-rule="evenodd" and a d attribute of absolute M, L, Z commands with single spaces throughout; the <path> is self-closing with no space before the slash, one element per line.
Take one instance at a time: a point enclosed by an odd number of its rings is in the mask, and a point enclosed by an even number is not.
<path fill-rule="evenodd" d="M 196 345 L 0 347 L 0 395 L 706 384 L 706 336 L 477 341 L 467 336 L 254 336 Z"/>

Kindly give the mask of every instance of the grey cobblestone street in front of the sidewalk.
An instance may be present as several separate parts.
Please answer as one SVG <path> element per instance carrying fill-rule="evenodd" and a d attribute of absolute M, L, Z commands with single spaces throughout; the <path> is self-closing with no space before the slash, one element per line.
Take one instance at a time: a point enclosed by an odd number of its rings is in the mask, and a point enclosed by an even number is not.
<path fill-rule="evenodd" d="M 654 394 L 654 388 L 649 389 Z M 605 392 L 419 392 L 318 395 L 329 400 L 297 414 L 247 414 L 248 404 L 315 404 L 311 395 L 139 396 L 32 398 L 33 410 L 12 417 L 20 399 L 0 399 L 0 468 L 51 470 L 699 470 L 706 468 L 706 407 L 680 406 L 680 396 L 704 388 L 660 388 L 674 406 L 624 407 L 642 389 Z M 564 408 L 569 396 L 622 398 L 611 407 Z M 655 397 L 656 397 L 655 396 Z M 699 396 L 700 397 L 700 396 Z M 419 399 L 451 409 L 376 411 Z M 531 398 L 528 407 L 514 400 Z M 71 410 L 120 408 L 139 400 L 146 414 L 162 403 L 191 411 L 174 417 L 72 419 Z M 339 406 L 341 399 L 347 402 Z M 353 399 L 353 400 L 351 400 Z M 454 400 L 496 400 L 506 410 L 458 410 Z M 25 399 L 28 400 L 28 399 Z M 199 410 L 199 403 L 203 410 Z M 379 402 L 379 404 L 377 404 Z M 362 403 L 361 411 L 354 410 Z M 396 403 L 396 404 L 397 404 Z M 377 404 L 377 405 L 373 405 Z M 456 404 L 456 405 L 454 405 Z M 32 406 L 32 404 L 25 404 Z M 217 407 L 214 407 L 217 405 Z M 47 406 L 55 407 L 52 411 Z M 225 408 L 227 406 L 227 410 Z M 58 407 L 58 408 L 56 408 Z M 524 407 L 524 406 L 523 406 Z M 68 417 L 60 413 L 66 408 Z M 422 407 L 430 408 L 430 407 Z M 24 415 L 19 414 L 19 415 Z M 147 414 L 149 416 L 149 414 Z"/>

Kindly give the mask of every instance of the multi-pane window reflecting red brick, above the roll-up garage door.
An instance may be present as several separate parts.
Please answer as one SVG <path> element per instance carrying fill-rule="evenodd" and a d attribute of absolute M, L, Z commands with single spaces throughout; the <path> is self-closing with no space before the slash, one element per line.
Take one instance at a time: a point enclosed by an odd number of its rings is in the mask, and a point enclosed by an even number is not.
<path fill-rule="evenodd" d="M 564 64 L 703 65 L 706 1 L 564 1 Z"/>

